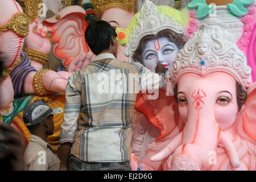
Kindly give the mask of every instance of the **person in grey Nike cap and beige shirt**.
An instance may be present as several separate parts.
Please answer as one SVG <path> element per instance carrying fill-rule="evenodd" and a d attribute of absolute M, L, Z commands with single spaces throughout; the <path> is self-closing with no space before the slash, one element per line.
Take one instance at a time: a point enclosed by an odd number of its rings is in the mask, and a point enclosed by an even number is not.
<path fill-rule="evenodd" d="M 23 157 L 27 171 L 59 170 L 60 160 L 47 143 L 47 137 L 54 133 L 53 114 L 62 112 L 61 107 L 51 108 L 44 100 L 37 100 L 25 107 L 23 120 L 31 133 Z"/>

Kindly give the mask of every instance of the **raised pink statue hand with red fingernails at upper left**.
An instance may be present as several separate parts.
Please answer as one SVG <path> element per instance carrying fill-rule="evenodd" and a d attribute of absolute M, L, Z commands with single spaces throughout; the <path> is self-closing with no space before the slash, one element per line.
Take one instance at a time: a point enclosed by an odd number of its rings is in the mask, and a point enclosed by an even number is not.
<path fill-rule="evenodd" d="M 49 53 L 52 46 L 49 39 L 46 38 L 46 35 L 51 32 L 51 28 L 43 26 L 38 18 L 36 18 L 35 21 L 30 24 L 29 28 L 30 31 L 25 38 L 26 46 L 36 51 Z"/>

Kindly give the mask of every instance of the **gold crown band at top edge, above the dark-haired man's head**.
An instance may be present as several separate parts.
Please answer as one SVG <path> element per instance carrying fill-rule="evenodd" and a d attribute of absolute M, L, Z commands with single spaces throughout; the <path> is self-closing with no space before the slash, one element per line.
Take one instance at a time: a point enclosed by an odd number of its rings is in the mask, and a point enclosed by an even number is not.
<path fill-rule="evenodd" d="M 112 7 L 120 7 L 129 12 L 134 12 L 135 10 L 134 0 L 91 0 L 90 2 L 96 14 L 101 14 L 104 10 Z"/>

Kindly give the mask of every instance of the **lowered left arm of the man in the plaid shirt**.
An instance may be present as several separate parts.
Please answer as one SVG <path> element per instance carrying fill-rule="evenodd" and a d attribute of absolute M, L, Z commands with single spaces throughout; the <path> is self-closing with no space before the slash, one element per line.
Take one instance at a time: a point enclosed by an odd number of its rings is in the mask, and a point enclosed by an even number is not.
<path fill-rule="evenodd" d="M 60 129 L 60 148 L 57 151 L 60 159 L 60 170 L 68 169 L 68 158 L 72 143 L 75 141 L 77 119 L 81 108 L 81 77 L 76 72 L 68 79 L 65 93 L 64 119 Z"/>

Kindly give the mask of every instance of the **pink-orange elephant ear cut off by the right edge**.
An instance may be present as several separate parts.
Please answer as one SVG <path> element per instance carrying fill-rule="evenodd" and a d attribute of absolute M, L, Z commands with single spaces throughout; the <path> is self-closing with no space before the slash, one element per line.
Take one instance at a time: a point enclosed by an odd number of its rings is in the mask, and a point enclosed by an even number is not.
<path fill-rule="evenodd" d="M 237 132 L 244 139 L 256 144 L 256 82 L 247 91 L 248 97 L 237 115 Z"/>

